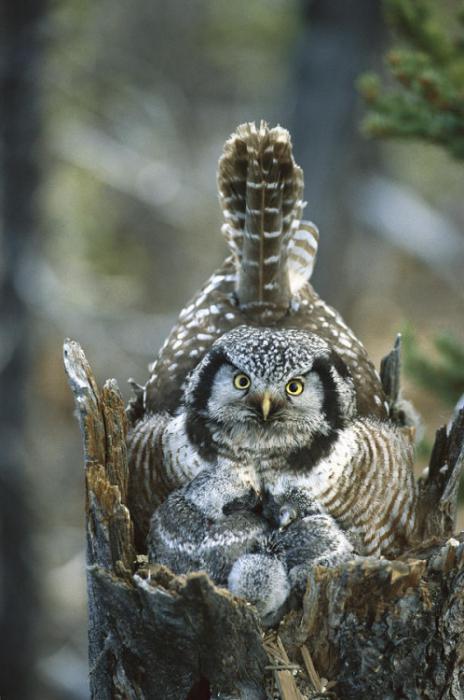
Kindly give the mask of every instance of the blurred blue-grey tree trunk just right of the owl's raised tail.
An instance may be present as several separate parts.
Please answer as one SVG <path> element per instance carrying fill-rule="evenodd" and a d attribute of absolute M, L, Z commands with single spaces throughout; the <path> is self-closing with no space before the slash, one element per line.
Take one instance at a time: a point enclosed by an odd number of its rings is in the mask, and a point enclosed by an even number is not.
<path fill-rule="evenodd" d="M 358 134 L 355 81 L 380 55 L 381 3 L 302 0 L 288 128 L 305 174 L 306 216 L 320 228 L 318 293 L 344 312 L 350 293 L 346 250 L 352 226 L 346 197 L 356 171 L 375 158 Z"/>

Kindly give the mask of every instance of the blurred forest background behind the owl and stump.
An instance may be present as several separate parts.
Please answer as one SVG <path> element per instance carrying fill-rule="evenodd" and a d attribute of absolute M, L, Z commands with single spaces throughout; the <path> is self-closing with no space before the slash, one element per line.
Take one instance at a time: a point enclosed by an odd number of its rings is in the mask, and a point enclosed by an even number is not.
<path fill-rule="evenodd" d="M 453 30 L 460 3 L 435 3 Z M 98 380 L 143 383 L 219 265 L 224 140 L 292 135 L 314 285 L 378 364 L 412 329 L 464 341 L 464 167 L 367 140 L 355 83 L 383 71 L 372 0 L 2 3 L 0 22 L 0 693 L 88 697 L 82 446 L 61 347 Z M 405 379 L 426 438 L 450 404 Z"/>

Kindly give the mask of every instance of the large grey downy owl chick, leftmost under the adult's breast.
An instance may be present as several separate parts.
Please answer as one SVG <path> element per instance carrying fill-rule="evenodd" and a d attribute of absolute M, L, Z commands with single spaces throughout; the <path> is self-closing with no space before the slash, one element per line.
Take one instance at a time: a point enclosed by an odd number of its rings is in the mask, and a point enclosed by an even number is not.
<path fill-rule="evenodd" d="M 227 584 L 234 562 L 258 551 L 270 534 L 259 515 L 256 475 L 218 460 L 155 510 L 148 536 L 149 560 L 178 574 L 206 571 Z"/>

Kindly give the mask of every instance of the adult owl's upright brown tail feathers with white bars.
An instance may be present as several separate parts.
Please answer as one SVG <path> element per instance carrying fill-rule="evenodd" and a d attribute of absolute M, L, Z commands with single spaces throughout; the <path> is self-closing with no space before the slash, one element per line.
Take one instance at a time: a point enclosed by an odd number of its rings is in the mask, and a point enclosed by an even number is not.
<path fill-rule="evenodd" d="M 288 131 L 266 122 L 239 126 L 224 146 L 218 186 L 240 306 L 287 309 L 311 276 L 319 238 L 301 220 L 303 171 Z"/>

